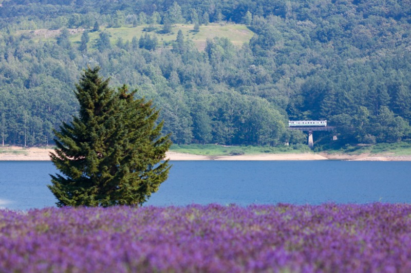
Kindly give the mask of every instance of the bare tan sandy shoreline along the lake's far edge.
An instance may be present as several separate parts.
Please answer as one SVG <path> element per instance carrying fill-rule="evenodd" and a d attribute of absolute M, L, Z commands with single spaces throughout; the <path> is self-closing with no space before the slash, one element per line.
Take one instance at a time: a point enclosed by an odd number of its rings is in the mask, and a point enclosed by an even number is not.
<path fill-rule="evenodd" d="M 18 146 L 0 146 L 0 161 L 50 161 L 49 153 L 53 149 L 22 148 Z M 170 161 L 194 160 L 221 160 L 221 161 L 275 161 L 275 160 L 345 160 L 345 161 L 411 161 L 411 155 L 394 156 L 378 154 L 327 154 L 327 153 L 299 153 L 299 154 L 256 154 L 238 156 L 206 156 L 184 154 L 169 151 L 166 158 Z"/>

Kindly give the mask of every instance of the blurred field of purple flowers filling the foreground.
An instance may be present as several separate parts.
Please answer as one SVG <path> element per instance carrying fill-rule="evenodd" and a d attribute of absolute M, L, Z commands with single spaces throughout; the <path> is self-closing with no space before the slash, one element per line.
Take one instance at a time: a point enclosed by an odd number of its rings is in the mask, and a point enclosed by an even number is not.
<path fill-rule="evenodd" d="M 0 272 L 411 272 L 411 205 L 0 211 Z"/>

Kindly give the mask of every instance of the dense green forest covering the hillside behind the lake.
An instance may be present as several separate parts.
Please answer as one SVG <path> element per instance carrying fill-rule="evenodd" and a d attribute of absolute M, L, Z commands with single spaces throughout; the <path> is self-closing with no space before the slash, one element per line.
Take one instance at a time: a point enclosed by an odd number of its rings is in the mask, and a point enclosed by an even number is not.
<path fill-rule="evenodd" d="M 242 45 L 192 40 L 238 24 Z M 289 119 L 337 126 L 337 141 L 315 135 L 324 149 L 411 136 L 409 0 L 5 0 L 1 143 L 52 144 L 87 66 L 153 99 L 175 143 L 304 143 Z"/>

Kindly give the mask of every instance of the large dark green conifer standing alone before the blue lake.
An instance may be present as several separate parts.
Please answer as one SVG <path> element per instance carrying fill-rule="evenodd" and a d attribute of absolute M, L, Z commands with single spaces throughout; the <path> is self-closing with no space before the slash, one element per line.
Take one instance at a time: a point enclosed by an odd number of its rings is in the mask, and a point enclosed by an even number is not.
<path fill-rule="evenodd" d="M 59 207 L 141 205 L 170 170 L 159 111 L 126 86 L 115 92 L 98 71 L 88 68 L 76 85 L 79 116 L 54 131 L 50 157 L 60 174 L 48 187 Z"/>

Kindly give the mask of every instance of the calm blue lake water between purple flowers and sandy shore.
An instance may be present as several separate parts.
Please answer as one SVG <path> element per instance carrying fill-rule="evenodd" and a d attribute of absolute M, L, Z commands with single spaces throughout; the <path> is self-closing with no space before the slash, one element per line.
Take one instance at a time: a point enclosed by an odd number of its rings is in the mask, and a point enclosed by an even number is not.
<path fill-rule="evenodd" d="M 145 205 L 411 203 L 407 161 L 171 161 Z M 55 206 L 49 161 L 0 161 L 0 207 Z"/>

